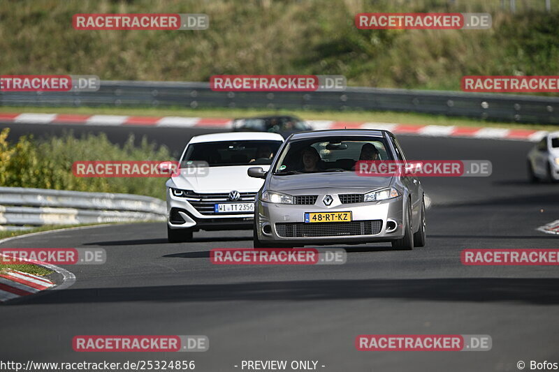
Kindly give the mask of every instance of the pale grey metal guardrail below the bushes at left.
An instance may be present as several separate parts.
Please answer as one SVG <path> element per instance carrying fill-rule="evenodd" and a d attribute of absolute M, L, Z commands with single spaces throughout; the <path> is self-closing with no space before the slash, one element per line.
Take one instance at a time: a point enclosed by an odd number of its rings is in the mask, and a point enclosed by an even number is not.
<path fill-rule="evenodd" d="M 165 218 L 166 203 L 142 195 L 0 187 L 0 230 Z"/>

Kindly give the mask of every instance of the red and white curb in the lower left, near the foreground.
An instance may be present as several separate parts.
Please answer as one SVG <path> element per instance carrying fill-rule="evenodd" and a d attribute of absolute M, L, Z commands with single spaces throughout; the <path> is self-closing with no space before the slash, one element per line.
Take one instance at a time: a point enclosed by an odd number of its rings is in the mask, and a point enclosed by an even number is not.
<path fill-rule="evenodd" d="M 34 295 L 41 290 L 48 290 L 54 286 L 55 283 L 41 276 L 13 269 L 0 271 L 0 302 Z"/>

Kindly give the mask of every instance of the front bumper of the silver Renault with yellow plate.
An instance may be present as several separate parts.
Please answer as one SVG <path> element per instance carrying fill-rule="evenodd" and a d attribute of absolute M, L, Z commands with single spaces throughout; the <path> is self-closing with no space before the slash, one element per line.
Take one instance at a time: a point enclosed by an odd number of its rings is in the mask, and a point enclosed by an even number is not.
<path fill-rule="evenodd" d="M 321 198 L 322 196 L 319 196 L 317 200 Z M 298 205 L 274 204 L 258 200 L 256 202 L 257 234 L 261 241 L 278 244 L 358 244 L 400 239 L 404 235 L 402 225 L 404 200 L 399 196 L 379 202 L 337 203 L 333 207 L 318 205 L 319 202 L 314 205 Z M 307 212 L 340 211 L 351 211 L 351 223 L 305 223 Z M 288 232 L 286 232 L 286 224 L 289 224 Z M 291 228 L 291 225 L 295 227 Z M 370 225 L 373 227 L 372 230 L 369 229 Z M 392 225 L 395 225 L 393 230 L 389 229 Z"/>

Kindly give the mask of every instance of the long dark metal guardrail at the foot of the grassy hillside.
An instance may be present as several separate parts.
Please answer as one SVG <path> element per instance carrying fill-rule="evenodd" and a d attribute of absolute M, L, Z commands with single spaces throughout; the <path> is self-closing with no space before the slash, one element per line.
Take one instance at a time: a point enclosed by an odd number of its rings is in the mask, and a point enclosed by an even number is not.
<path fill-rule="evenodd" d="M 356 87 L 304 93 L 220 92 L 202 82 L 102 81 L 95 92 L 0 92 L 0 105 L 375 110 L 559 124 L 557 97 Z"/>

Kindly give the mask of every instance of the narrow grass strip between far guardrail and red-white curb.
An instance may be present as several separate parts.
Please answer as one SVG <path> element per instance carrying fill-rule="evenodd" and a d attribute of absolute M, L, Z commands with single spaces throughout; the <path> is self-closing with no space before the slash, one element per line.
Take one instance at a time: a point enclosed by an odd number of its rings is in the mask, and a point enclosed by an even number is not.
<path fill-rule="evenodd" d="M 113 114 L 138 116 L 184 116 L 184 117 L 248 117 L 261 114 L 295 114 L 306 120 L 335 121 L 377 121 L 409 125 L 440 126 L 491 126 L 494 128 L 535 129 L 556 131 L 557 126 L 542 124 L 516 124 L 505 121 L 486 121 L 466 117 L 446 117 L 443 115 L 417 114 L 412 112 L 340 112 L 340 111 L 304 111 L 304 110 L 242 110 L 242 109 L 188 109 L 182 107 L 142 108 L 142 107 L 0 107 L 0 112 L 43 112 L 58 114 Z"/>

